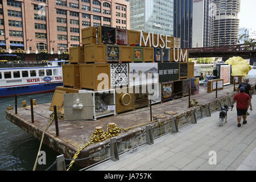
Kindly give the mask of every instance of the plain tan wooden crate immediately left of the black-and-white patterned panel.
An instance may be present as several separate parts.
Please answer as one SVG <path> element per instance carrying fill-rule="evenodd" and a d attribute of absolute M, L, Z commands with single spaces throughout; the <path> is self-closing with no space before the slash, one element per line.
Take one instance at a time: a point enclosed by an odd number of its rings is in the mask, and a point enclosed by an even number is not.
<path fill-rule="evenodd" d="M 110 64 L 80 64 L 80 86 L 94 91 L 110 89 Z"/>

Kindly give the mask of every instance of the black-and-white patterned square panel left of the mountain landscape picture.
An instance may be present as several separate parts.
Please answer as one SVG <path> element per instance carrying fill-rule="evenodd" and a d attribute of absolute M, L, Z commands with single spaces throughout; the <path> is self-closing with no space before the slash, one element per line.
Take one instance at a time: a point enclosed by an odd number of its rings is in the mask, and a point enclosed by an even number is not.
<path fill-rule="evenodd" d="M 128 64 L 110 64 L 111 86 L 128 85 Z"/>

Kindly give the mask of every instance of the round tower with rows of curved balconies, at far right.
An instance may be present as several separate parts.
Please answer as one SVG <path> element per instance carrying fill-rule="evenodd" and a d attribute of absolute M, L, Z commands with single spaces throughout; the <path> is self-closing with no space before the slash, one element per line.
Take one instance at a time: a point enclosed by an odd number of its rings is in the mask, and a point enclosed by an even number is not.
<path fill-rule="evenodd" d="M 212 46 L 237 44 L 240 0 L 213 0 Z"/>

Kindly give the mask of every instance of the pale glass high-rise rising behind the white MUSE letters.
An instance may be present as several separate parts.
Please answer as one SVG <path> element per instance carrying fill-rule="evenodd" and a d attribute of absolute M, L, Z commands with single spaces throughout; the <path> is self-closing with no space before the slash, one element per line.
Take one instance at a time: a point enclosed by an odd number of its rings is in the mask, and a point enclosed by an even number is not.
<path fill-rule="evenodd" d="M 173 0 L 126 0 L 130 2 L 130 28 L 173 36 Z"/>

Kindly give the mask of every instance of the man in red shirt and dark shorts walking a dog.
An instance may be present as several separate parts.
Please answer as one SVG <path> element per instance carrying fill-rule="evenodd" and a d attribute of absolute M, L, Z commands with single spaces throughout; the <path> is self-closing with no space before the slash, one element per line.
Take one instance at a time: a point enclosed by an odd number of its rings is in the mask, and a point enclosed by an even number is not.
<path fill-rule="evenodd" d="M 243 118 L 243 125 L 247 123 L 246 121 L 246 113 L 248 110 L 248 107 L 250 106 L 250 110 L 253 110 L 253 107 L 251 106 L 251 98 L 248 94 L 245 93 L 245 88 L 243 86 L 240 87 L 240 93 L 236 94 L 233 98 L 232 106 L 234 106 L 234 103 L 237 101 L 237 121 L 238 121 L 238 127 L 241 127 L 241 119 Z"/>

